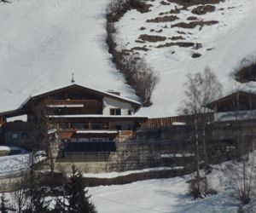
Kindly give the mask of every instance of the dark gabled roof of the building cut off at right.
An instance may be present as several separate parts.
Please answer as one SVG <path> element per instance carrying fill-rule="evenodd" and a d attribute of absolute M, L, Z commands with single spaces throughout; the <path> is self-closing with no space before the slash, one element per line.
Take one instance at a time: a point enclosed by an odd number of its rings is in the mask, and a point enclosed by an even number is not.
<path fill-rule="evenodd" d="M 236 99 L 237 96 L 248 96 L 248 97 L 253 97 L 255 98 L 256 100 L 256 94 L 253 93 L 253 92 L 247 92 L 247 91 L 242 91 L 242 90 L 239 90 L 239 91 L 236 91 L 230 95 L 226 95 L 218 100 L 215 100 L 215 101 L 212 101 L 210 103 L 207 103 L 207 105 L 205 105 L 205 107 L 209 108 L 209 109 L 214 109 L 215 105 L 217 104 L 220 104 L 220 103 L 223 103 L 225 101 L 230 101 L 230 100 L 234 100 Z"/>

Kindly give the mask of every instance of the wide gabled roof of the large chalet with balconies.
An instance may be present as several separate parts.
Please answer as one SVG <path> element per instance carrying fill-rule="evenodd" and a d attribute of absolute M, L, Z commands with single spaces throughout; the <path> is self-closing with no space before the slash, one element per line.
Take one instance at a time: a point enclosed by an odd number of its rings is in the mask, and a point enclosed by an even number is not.
<path fill-rule="evenodd" d="M 97 90 L 97 89 L 90 89 L 90 88 L 81 86 L 79 84 L 73 83 L 73 84 L 70 84 L 70 85 L 67 85 L 67 86 L 64 86 L 64 87 L 61 87 L 61 88 L 55 88 L 55 89 L 51 89 L 49 91 L 44 91 L 43 93 L 40 93 L 40 94 L 31 95 L 26 99 L 26 101 L 24 101 L 20 105 L 19 109 L 24 108 L 32 100 L 42 98 L 45 95 L 55 95 L 59 92 L 62 92 L 62 91 L 68 90 L 68 89 L 82 89 L 82 90 L 84 90 L 84 92 L 87 92 L 87 93 L 90 93 L 90 94 L 93 94 L 93 95 L 98 95 L 98 96 L 102 96 L 102 97 L 107 96 L 107 97 L 110 97 L 110 98 L 113 98 L 113 99 L 116 99 L 116 100 L 119 100 L 119 101 L 129 102 L 129 103 L 131 103 L 131 105 L 133 105 L 134 107 L 137 107 L 137 108 L 141 107 L 141 103 L 138 102 L 138 101 L 133 101 L 131 99 L 121 97 L 119 95 L 114 95 L 112 93 L 103 92 L 103 91 Z"/>

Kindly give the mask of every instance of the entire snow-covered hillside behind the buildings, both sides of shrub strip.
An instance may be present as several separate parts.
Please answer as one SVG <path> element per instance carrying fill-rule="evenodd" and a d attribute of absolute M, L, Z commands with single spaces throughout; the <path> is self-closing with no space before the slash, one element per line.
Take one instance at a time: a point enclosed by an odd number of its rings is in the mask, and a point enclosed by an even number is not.
<path fill-rule="evenodd" d="M 119 90 L 137 99 L 111 62 L 105 43 L 105 9 L 111 0 L 15 0 L 0 4 L 0 111 L 19 107 L 27 96 L 70 82 L 95 89 Z M 162 2 L 162 3 L 161 3 Z M 128 11 L 117 23 L 121 49 L 139 52 L 160 75 L 152 97 L 154 105 L 139 113 L 148 117 L 172 116 L 183 99 L 187 73 L 206 66 L 216 72 L 225 92 L 234 88 L 230 72 L 247 55 L 256 55 L 256 2 L 225 0 L 207 14 L 192 14 L 176 3 L 154 0 L 148 13 Z M 171 9 L 181 9 L 170 14 Z M 177 20 L 146 22 L 176 15 Z M 191 19 L 191 16 L 194 17 Z M 188 18 L 190 17 L 190 20 Z M 193 20 L 194 19 L 194 20 Z M 179 22 L 218 21 L 211 26 L 171 27 Z M 143 29 L 143 27 L 145 29 Z M 137 43 L 140 35 L 166 37 L 165 41 Z M 142 41 L 142 40 L 141 40 Z M 166 43 L 201 43 L 201 49 Z M 167 44 L 168 45 L 168 44 Z M 193 53 L 201 57 L 192 58 Z"/>

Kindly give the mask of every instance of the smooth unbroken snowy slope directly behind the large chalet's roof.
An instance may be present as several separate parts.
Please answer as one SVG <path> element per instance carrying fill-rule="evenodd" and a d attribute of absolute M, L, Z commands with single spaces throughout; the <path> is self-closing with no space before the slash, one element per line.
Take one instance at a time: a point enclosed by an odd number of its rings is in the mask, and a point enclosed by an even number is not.
<path fill-rule="evenodd" d="M 0 110 L 29 95 L 76 83 L 136 99 L 105 44 L 109 0 L 18 0 L 0 4 Z"/>

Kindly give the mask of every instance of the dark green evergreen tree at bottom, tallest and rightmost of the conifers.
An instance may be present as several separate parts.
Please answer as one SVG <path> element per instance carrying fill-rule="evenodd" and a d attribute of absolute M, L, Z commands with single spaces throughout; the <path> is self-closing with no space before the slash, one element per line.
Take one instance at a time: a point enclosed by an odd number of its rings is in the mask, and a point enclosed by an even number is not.
<path fill-rule="evenodd" d="M 84 190 L 85 185 L 81 172 L 72 166 L 72 176 L 64 190 L 67 193 L 67 211 L 73 213 L 96 213 L 96 207 L 90 203 L 90 196 L 87 196 L 88 190 Z"/>

